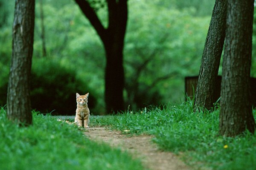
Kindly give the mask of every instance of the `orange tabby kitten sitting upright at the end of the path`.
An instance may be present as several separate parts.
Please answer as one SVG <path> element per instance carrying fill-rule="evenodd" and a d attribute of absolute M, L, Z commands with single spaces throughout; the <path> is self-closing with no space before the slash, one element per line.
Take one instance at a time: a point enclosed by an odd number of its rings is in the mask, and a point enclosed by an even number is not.
<path fill-rule="evenodd" d="M 84 122 L 84 128 L 89 128 L 88 124 L 89 124 L 90 111 L 87 105 L 88 96 L 89 96 L 89 93 L 85 95 L 79 95 L 78 93 L 76 93 L 77 108 L 76 108 L 75 123 L 78 126 L 83 126 L 83 122 Z"/>

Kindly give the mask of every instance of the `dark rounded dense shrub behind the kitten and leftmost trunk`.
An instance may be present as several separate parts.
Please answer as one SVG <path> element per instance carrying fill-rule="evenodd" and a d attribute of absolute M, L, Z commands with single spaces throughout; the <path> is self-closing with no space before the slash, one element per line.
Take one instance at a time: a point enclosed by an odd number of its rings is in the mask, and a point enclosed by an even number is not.
<path fill-rule="evenodd" d="M 0 105 L 6 104 L 8 72 L 1 75 Z M 76 78 L 74 68 L 66 68 L 58 61 L 35 59 L 31 73 L 32 109 L 53 115 L 74 115 L 76 112 L 76 93 L 90 91 L 88 85 Z M 93 111 L 96 99 L 90 91 L 90 110 Z"/>

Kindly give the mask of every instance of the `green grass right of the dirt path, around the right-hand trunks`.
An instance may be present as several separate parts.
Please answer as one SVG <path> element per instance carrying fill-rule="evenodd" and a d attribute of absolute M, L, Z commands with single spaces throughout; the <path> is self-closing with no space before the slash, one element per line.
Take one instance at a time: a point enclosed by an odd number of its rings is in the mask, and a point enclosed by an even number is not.
<path fill-rule="evenodd" d="M 235 138 L 218 136 L 219 109 L 193 112 L 191 105 L 145 108 L 137 113 L 96 117 L 91 123 L 128 134 L 152 134 L 160 149 L 182 153 L 184 161 L 195 169 L 256 170 L 256 133 Z"/>

